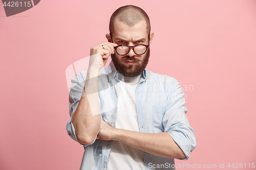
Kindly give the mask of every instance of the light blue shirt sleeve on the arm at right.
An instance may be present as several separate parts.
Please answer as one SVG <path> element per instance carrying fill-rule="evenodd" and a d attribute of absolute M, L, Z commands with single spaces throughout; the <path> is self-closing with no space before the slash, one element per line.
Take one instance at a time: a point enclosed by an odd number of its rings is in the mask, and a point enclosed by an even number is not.
<path fill-rule="evenodd" d="M 186 158 L 181 160 L 187 160 L 197 146 L 195 131 L 190 127 L 185 114 L 187 108 L 184 106 L 184 93 L 180 83 L 173 78 L 173 83 L 170 84 L 172 86 L 171 90 L 168 90 L 167 106 L 163 116 L 164 132 L 174 139 L 186 155 Z"/>

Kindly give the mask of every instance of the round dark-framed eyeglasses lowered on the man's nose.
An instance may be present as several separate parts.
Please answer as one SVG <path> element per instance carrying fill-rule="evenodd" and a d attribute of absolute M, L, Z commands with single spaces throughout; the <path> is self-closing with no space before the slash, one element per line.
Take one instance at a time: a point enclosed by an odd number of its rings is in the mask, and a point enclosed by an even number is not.
<path fill-rule="evenodd" d="M 130 52 L 131 48 L 133 49 L 133 52 L 135 54 L 143 55 L 146 52 L 148 45 L 145 45 L 145 44 L 137 44 L 135 46 L 118 45 L 114 47 L 114 49 L 116 50 L 116 53 L 120 56 L 127 55 Z"/>

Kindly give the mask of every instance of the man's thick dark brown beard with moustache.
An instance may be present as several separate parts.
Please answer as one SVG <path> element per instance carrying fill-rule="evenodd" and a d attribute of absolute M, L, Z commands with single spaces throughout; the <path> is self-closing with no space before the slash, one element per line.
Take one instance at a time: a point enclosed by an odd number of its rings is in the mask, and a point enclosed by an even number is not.
<path fill-rule="evenodd" d="M 150 59 L 150 47 L 147 48 L 146 53 L 143 54 L 141 59 L 135 58 L 134 56 L 124 56 L 118 59 L 117 54 L 111 54 L 112 62 L 120 74 L 124 77 L 136 77 L 146 68 L 146 65 Z M 125 61 L 135 61 L 135 64 L 127 65 Z M 124 64 L 123 64 L 124 63 Z"/>

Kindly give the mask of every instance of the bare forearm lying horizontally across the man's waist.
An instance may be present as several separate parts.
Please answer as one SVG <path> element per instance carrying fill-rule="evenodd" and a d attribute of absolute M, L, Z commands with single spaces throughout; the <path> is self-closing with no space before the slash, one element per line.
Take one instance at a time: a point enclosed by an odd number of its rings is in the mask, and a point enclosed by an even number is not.
<path fill-rule="evenodd" d="M 186 156 L 173 138 L 165 132 L 141 133 L 116 129 L 113 140 L 119 140 L 134 148 L 164 158 L 182 158 Z"/>

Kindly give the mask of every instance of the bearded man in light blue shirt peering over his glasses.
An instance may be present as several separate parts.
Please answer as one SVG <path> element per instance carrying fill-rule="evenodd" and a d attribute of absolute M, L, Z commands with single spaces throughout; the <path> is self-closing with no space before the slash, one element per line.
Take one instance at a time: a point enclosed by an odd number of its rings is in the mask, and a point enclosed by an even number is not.
<path fill-rule="evenodd" d="M 196 148 L 179 82 L 146 70 L 150 31 L 142 9 L 117 9 L 108 42 L 91 47 L 88 71 L 72 79 L 67 131 L 86 149 L 80 169 L 175 169 Z"/>

